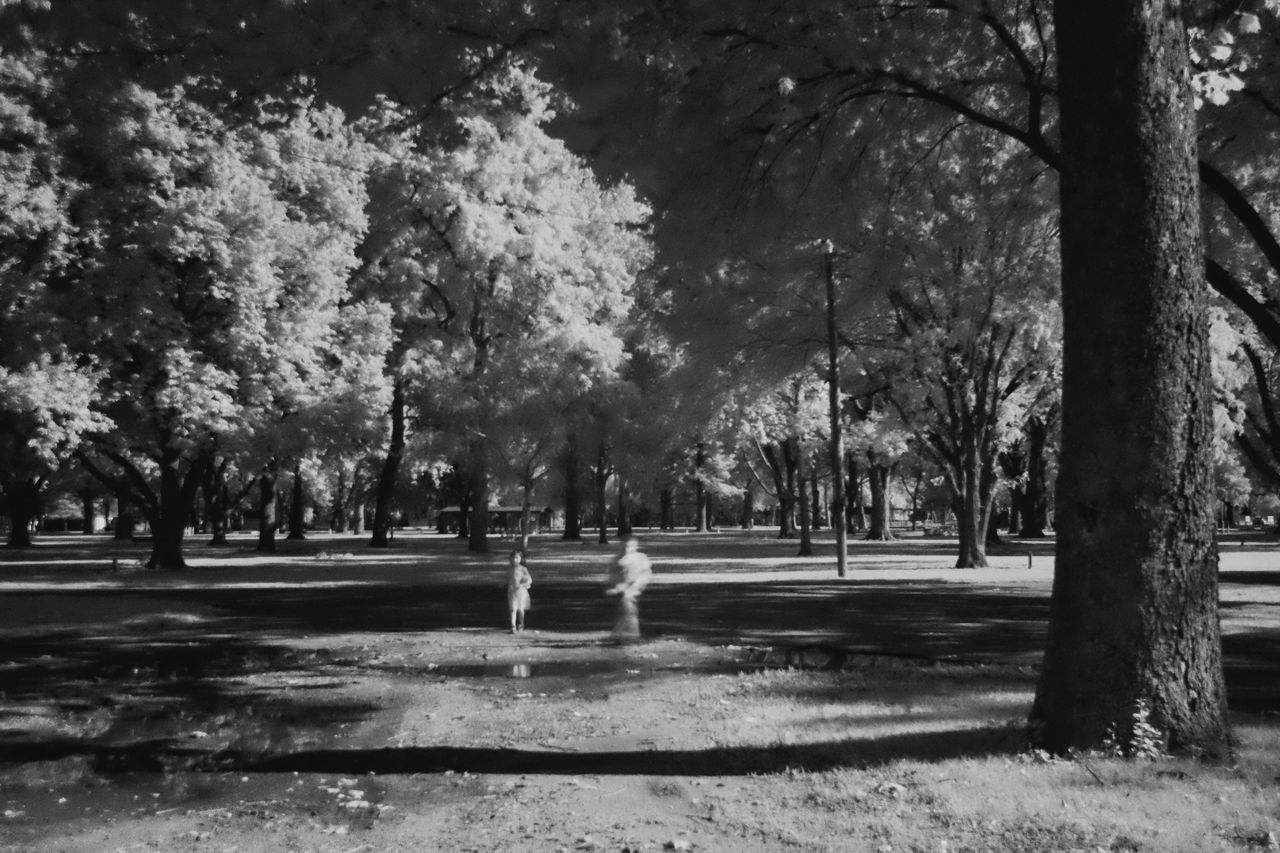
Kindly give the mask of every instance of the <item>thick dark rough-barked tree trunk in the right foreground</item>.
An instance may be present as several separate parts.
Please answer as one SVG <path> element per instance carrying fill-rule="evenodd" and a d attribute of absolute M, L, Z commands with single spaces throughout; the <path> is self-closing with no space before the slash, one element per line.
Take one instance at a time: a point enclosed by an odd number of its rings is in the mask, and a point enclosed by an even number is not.
<path fill-rule="evenodd" d="M 1204 259 L 1187 31 L 1171 0 L 1059 0 L 1062 453 L 1032 719 L 1053 751 L 1229 742 Z M 1101 215 L 1105 211 L 1106 215 Z"/>

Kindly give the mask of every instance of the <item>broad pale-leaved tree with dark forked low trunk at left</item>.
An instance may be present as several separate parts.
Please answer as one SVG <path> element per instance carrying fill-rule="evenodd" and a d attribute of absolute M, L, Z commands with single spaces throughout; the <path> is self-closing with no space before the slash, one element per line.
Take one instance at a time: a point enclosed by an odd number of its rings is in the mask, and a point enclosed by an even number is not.
<path fill-rule="evenodd" d="M 79 286 L 73 348 L 99 360 L 115 428 L 79 460 L 178 567 L 215 439 L 250 432 L 271 459 L 325 391 L 364 229 L 360 151 L 339 113 L 260 105 L 228 124 L 191 92 L 127 85 L 77 124 Z"/>

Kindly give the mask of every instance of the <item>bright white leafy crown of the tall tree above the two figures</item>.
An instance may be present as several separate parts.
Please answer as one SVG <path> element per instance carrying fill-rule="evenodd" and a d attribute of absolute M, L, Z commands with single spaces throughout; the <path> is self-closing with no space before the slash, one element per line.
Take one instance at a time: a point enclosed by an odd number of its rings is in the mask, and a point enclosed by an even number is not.
<path fill-rule="evenodd" d="M 396 132 L 412 123 L 388 102 L 366 122 L 380 154 L 361 278 L 397 314 L 397 369 L 470 400 L 492 432 L 622 365 L 649 210 L 547 133 L 553 92 L 529 70 L 499 70 L 454 110 L 444 143 Z"/>

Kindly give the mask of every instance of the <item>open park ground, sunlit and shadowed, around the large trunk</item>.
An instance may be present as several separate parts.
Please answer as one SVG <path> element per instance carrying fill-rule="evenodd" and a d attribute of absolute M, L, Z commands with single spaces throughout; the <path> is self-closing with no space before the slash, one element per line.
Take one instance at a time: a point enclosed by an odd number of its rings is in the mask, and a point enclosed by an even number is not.
<path fill-rule="evenodd" d="M 402 534 L 0 553 L 0 850 L 1262 850 L 1280 847 L 1280 546 L 1222 542 L 1229 765 L 1027 748 L 1052 543 Z"/>

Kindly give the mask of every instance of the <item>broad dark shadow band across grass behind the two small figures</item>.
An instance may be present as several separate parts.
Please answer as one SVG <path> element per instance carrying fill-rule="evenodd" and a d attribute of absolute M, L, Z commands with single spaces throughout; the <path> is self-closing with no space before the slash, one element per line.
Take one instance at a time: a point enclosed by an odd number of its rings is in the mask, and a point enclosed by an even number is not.
<path fill-rule="evenodd" d="M 152 602 L 156 611 L 212 608 L 227 634 L 324 635 L 460 629 L 502 630 L 506 593 L 497 584 L 392 585 L 271 589 L 41 590 L 8 593 L 20 607 L 50 611 L 74 599 L 110 610 L 115 597 Z M 60 605 L 59 602 L 65 602 Z M 1038 656 L 1048 602 L 1024 589 L 943 583 L 736 581 L 653 585 L 641 601 L 646 635 L 684 637 L 712 644 L 822 643 L 855 652 L 933 658 L 1002 660 Z M 607 631 L 613 602 L 589 583 L 535 584 L 527 625 L 543 631 Z M 0 660 L 26 649 L 0 638 Z"/>

